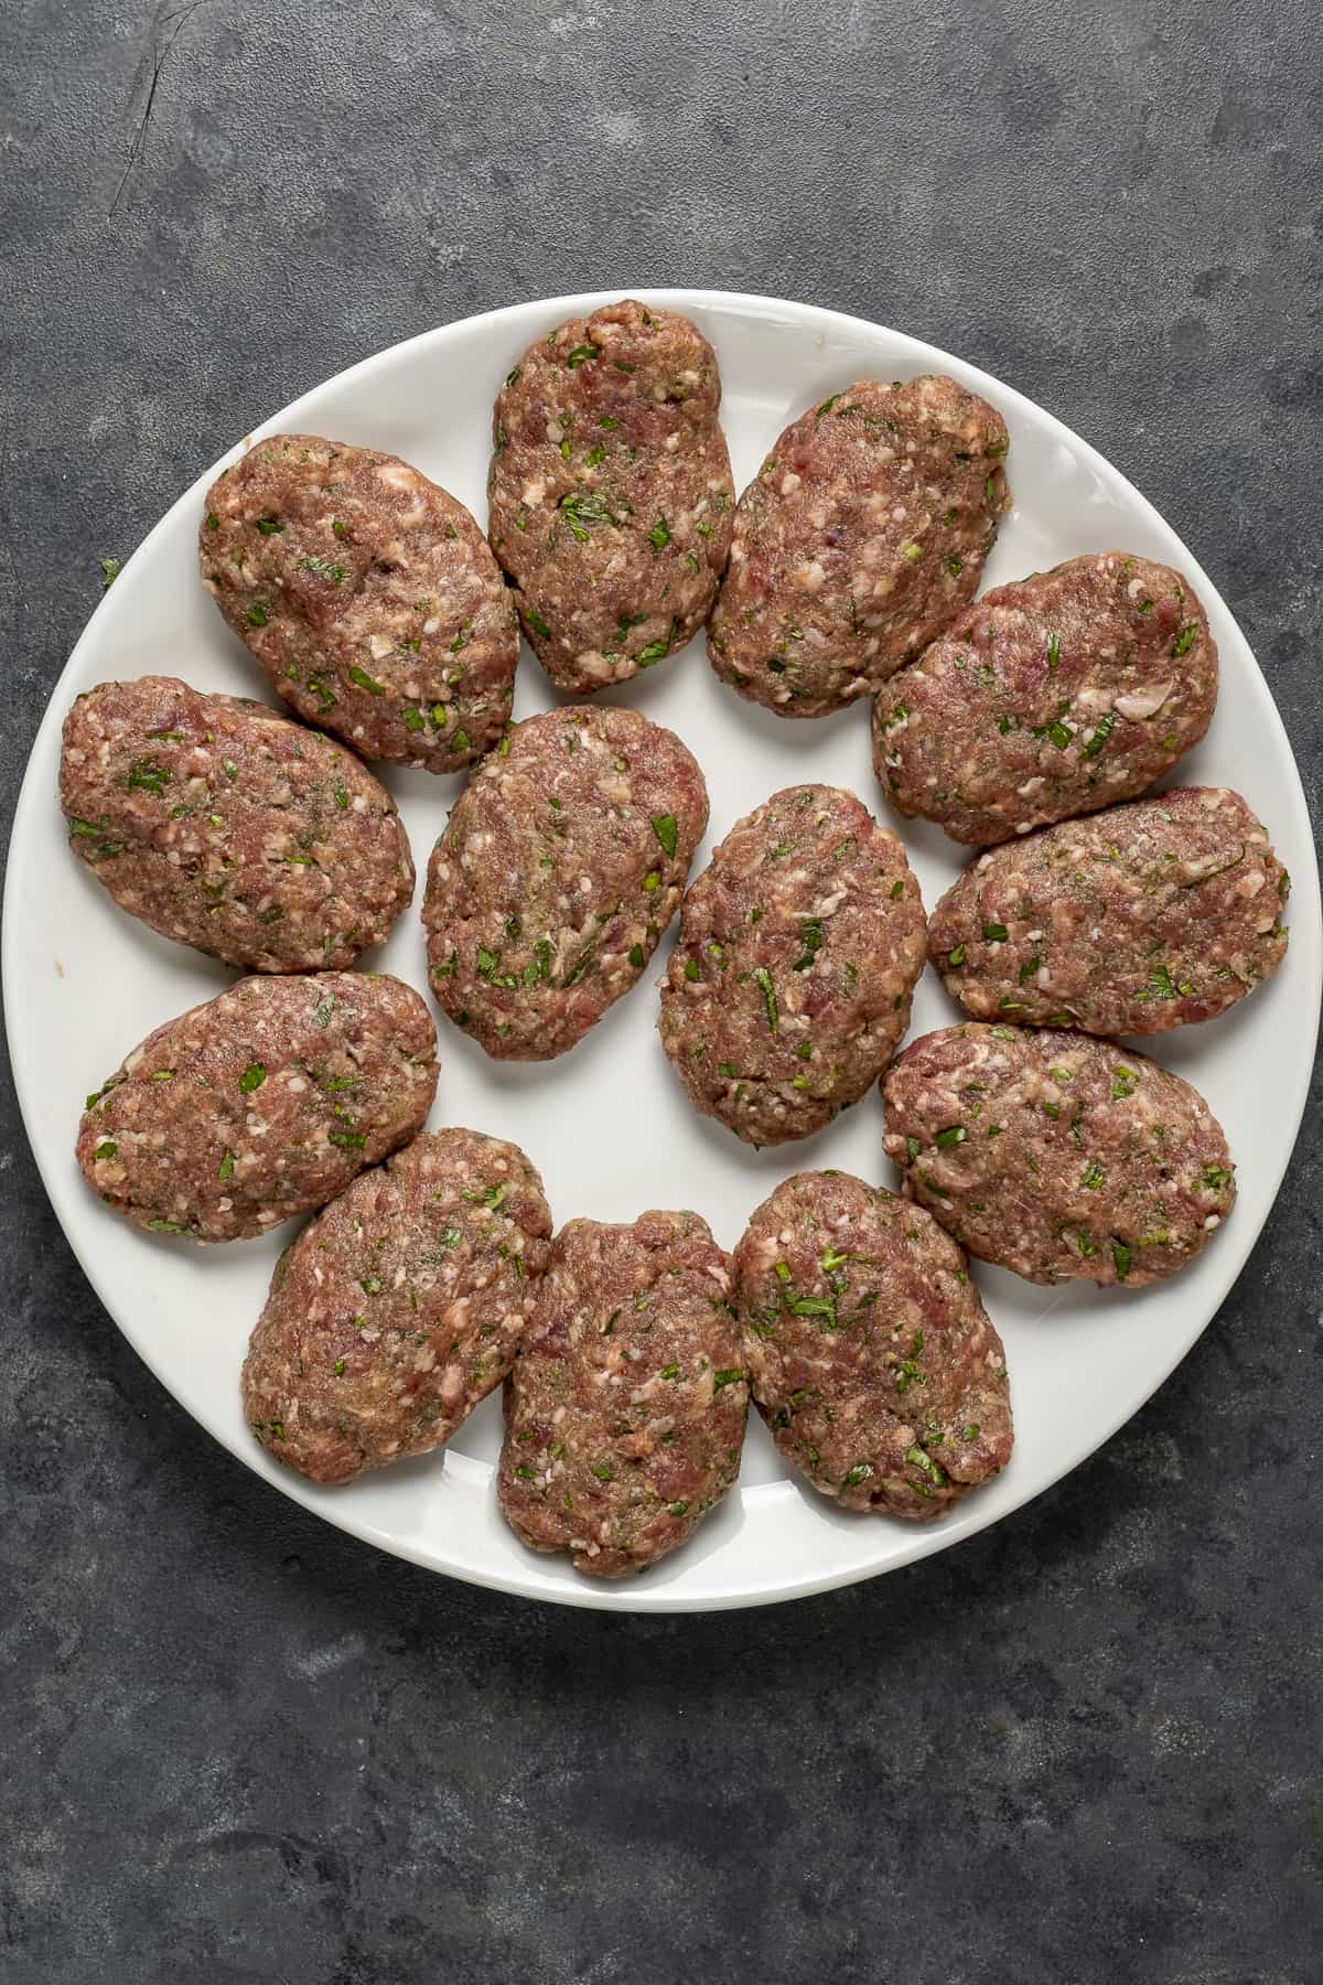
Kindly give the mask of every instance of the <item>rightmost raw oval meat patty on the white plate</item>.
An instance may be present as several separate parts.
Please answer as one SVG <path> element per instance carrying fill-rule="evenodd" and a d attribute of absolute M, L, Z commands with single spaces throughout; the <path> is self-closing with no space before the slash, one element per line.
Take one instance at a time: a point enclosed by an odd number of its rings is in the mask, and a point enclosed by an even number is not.
<path fill-rule="evenodd" d="M 928 957 L 980 1020 L 1164 1034 L 1271 979 L 1287 889 L 1240 794 L 1176 786 L 980 856 Z"/>

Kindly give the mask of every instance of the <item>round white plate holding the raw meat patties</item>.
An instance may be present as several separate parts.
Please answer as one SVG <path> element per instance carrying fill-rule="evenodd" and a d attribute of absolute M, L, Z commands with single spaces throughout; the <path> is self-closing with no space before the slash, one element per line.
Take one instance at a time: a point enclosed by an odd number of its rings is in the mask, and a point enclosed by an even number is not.
<path fill-rule="evenodd" d="M 413 337 L 319 385 L 260 433 L 300 429 L 389 449 L 484 520 L 490 409 L 500 379 L 534 337 L 613 294 L 518 304 Z M 1002 522 L 986 584 L 1113 548 L 1174 564 L 1194 582 L 1222 653 L 1222 699 L 1208 738 L 1176 778 L 1244 792 L 1293 875 L 1291 949 L 1277 977 L 1222 1020 L 1154 1044 L 1158 1060 L 1208 1096 L 1240 1163 L 1240 1205 L 1198 1260 L 1174 1282 L 1129 1294 L 1083 1284 L 1035 1288 L 980 1264 L 988 1310 L 1006 1340 L 1016 1453 L 992 1487 L 934 1524 L 841 1515 L 785 1475 L 756 1413 L 732 1495 L 682 1550 L 625 1584 L 581 1578 L 563 1558 L 536 1556 L 508 1530 L 492 1489 L 496 1397 L 444 1453 L 347 1489 L 315 1489 L 270 1461 L 244 1425 L 238 1370 L 292 1229 L 212 1249 L 147 1237 L 103 1207 L 73 1163 L 83 1094 L 153 1026 L 218 992 L 234 975 L 125 917 L 69 856 L 56 804 L 60 725 L 71 699 L 93 683 L 165 673 L 210 691 L 266 689 L 198 580 L 202 492 L 224 463 L 180 496 L 127 562 L 46 713 L 14 822 L 4 992 L 22 1112 L 60 1223 L 119 1328 L 208 1433 L 319 1517 L 417 1564 L 573 1606 L 688 1612 L 821 1592 L 944 1550 L 1057 1481 L 1143 1405 L 1232 1286 L 1291 1153 L 1319 1012 L 1319 881 L 1291 748 L 1244 635 L 1180 540 L 1091 447 L 974 365 L 899 331 L 807 304 L 706 290 L 635 294 L 688 312 L 716 347 L 740 490 L 782 427 L 813 401 L 861 377 L 944 371 L 1000 407 L 1012 433 L 1014 510 Z M 817 723 L 783 723 L 724 689 L 702 641 L 611 695 L 678 730 L 708 776 L 712 830 L 694 873 L 740 814 L 793 780 L 851 786 L 883 820 L 899 824 L 873 778 L 867 701 Z M 553 701 L 526 653 L 516 715 Z M 401 802 L 422 873 L 460 780 L 373 770 Z M 960 871 L 960 852 L 936 828 L 906 822 L 901 830 L 932 907 Z M 417 903 L 391 943 L 365 955 L 363 965 L 426 985 Z M 653 977 L 662 965 L 664 951 Z M 954 1018 L 928 973 L 914 998 L 912 1034 Z M 500 1066 L 440 1020 L 432 1124 L 468 1124 L 518 1139 L 541 1169 L 557 1223 L 575 1213 L 631 1221 L 647 1207 L 696 1207 L 724 1247 L 734 1247 L 752 1209 L 793 1171 L 839 1165 L 865 1179 L 887 1177 L 877 1094 L 817 1137 L 750 1151 L 694 1116 L 655 1022 L 649 979 L 561 1060 Z"/>

